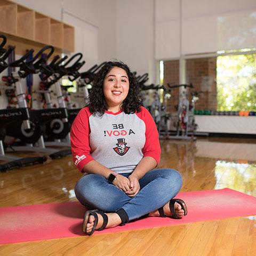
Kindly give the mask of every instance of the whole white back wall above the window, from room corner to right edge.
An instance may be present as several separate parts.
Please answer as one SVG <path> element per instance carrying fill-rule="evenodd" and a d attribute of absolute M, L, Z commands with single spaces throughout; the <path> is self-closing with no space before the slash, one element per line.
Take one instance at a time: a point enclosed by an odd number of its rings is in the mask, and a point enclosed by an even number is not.
<path fill-rule="evenodd" d="M 156 60 L 251 48 L 255 42 L 255 0 L 116 1 L 117 58 L 139 74 L 148 72 L 149 83 L 157 83 Z"/>

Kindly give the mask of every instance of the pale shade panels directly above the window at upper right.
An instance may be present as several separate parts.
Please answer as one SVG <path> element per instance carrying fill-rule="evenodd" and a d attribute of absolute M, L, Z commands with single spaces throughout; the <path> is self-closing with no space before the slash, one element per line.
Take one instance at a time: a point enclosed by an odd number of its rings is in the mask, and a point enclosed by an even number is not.
<path fill-rule="evenodd" d="M 255 0 L 155 1 L 156 59 L 256 47 Z"/>

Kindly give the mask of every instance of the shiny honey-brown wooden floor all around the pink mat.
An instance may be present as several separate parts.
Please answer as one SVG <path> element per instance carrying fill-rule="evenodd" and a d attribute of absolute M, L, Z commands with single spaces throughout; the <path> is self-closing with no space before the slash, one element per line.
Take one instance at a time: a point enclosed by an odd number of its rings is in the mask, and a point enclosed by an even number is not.
<path fill-rule="evenodd" d="M 159 167 L 181 172 L 182 191 L 232 188 L 256 196 L 256 139 L 161 141 Z M 76 201 L 70 157 L 0 173 L 0 205 Z M 2 245 L 0 255 L 256 255 L 256 216 Z"/>

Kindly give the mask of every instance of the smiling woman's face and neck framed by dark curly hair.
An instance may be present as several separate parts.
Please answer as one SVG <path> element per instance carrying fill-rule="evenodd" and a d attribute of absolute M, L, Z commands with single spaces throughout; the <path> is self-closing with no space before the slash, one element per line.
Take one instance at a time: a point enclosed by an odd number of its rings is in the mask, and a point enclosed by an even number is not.
<path fill-rule="evenodd" d="M 103 82 L 103 93 L 109 111 L 119 111 L 129 92 L 129 78 L 126 71 L 113 67 Z"/>

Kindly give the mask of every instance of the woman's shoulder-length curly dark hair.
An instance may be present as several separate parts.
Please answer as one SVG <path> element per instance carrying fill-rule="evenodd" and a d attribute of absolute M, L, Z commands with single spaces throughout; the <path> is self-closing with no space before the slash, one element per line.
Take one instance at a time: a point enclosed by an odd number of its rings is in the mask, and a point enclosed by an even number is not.
<path fill-rule="evenodd" d="M 108 106 L 103 94 L 103 82 L 106 75 L 114 67 L 124 69 L 129 79 L 129 92 L 122 103 L 124 113 L 133 114 L 135 111 L 141 111 L 142 100 L 140 97 L 140 87 L 137 79 L 133 73 L 131 73 L 129 67 L 125 65 L 125 63 L 121 61 L 108 61 L 95 76 L 93 86 L 89 94 L 89 104 L 87 106 L 89 106 L 90 112 L 94 115 L 99 114 L 102 116 L 105 113 L 105 110 L 108 110 Z"/>

